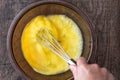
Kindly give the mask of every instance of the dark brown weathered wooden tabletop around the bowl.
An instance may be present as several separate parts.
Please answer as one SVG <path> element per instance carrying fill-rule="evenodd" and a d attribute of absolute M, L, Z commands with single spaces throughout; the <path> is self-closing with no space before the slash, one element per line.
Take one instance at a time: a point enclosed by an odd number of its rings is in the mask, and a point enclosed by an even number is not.
<path fill-rule="evenodd" d="M 13 18 L 25 6 L 40 0 L 0 0 L 0 80 L 24 80 L 14 70 L 6 50 Z M 120 80 L 120 0 L 67 0 L 81 8 L 94 24 L 96 36 L 90 63 L 97 63 Z"/>

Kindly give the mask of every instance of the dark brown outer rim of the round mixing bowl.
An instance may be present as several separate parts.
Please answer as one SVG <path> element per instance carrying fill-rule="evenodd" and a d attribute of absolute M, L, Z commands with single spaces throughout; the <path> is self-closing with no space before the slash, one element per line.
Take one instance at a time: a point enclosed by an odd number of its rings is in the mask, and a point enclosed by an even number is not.
<path fill-rule="evenodd" d="M 15 61 L 14 55 L 13 55 L 13 50 L 12 50 L 12 36 L 13 36 L 13 32 L 15 30 L 15 27 L 17 25 L 17 22 L 21 19 L 21 17 L 26 14 L 27 11 L 29 11 L 30 9 L 42 5 L 42 4 L 59 4 L 59 5 L 63 5 L 65 7 L 68 7 L 72 10 L 74 10 L 75 12 L 77 12 L 79 15 L 81 15 L 81 17 L 83 18 L 83 20 L 86 21 L 86 24 L 88 24 L 91 27 L 88 27 L 91 33 L 91 49 L 89 52 L 89 56 L 88 56 L 88 60 L 89 61 L 91 54 L 92 54 L 92 50 L 93 50 L 93 24 L 90 21 L 88 15 L 82 11 L 79 7 L 77 7 L 75 4 L 68 2 L 68 1 L 64 1 L 64 0 L 41 0 L 41 1 L 37 1 L 34 3 L 29 4 L 28 6 L 24 7 L 22 10 L 20 10 L 20 12 L 15 16 L 15 18 L 12 20 L 11 25 L 9 27 L 8 33 L 7 33 L 7 53 L 8 53 L 8 57 L 10 59 L 10 62 L 12 64 L 12 66 L 14 67 L 14 69 L 19 72 L 19 74 L 21 76 L 23 76 L 25 79 L 27 80 L 31 80 L 27 74 L 25 74 L 25 72 L 23 70 L 21 70 L 21 68 L 17 65 L 17 62 Z M 84 17 L 83 17 L 84 16 Z M 90 29 L 91 28 L 91 29 Z M 71 78 L 70 78 L 71 79 Z"/>

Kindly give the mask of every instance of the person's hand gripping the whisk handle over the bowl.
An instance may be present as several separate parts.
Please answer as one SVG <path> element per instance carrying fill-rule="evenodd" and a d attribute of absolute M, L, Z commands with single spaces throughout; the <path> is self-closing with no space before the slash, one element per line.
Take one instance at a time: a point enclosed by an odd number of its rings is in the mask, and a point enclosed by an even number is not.
<path fill-rule="evenodd" d="M 74 80 L 114 80 L 113 75 L 106 68 L 97 64 L 87 64 L 85 58 L 80 57 L 77 65 L 70 65 Z"/>

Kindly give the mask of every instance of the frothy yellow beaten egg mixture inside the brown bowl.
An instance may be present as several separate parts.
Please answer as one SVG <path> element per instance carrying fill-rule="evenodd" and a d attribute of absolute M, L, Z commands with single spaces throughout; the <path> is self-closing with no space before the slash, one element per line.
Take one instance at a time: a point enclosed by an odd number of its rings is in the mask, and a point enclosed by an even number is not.
<path fill-rule="evenodd" d="M 77 60 L 83 48 L 82 34 L 77 24 L 65 15 L 40 15 L 32 19 L 22 33 L 23 55 L 33 70 L 44 75 L 67 71 L 68 63 L 37 41 L 36 34 L 40 28 L 49 29 L 67 54 Z"/>

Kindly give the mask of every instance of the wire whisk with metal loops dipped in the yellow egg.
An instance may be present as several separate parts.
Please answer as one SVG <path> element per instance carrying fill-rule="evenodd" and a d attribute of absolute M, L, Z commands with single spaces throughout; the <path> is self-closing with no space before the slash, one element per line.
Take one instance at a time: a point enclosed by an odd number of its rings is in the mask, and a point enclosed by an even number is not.
<path fill-rule="evenodd" d="M 67 55 L 65 50 L 48 29 L 40 29 L 39 32 L 36 34 L 36 38 L 43 46 L 60 56 L 68 64 L 76 64 L 76 62 Z"/>

